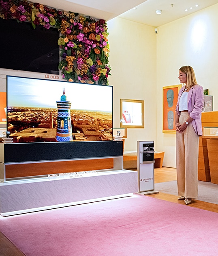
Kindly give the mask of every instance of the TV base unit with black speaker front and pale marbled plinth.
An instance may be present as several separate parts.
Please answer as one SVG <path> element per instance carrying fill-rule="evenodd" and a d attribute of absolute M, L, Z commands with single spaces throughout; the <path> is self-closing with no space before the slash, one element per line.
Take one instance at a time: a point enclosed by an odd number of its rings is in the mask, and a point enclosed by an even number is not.
<path fill-rule="evenodd" d="M 138 190 L 137 172 L 123 169 L 122 141 L 24 144 L 0 144 L 0 214 L 4 217 L 126 197 Z M 53 175 L 5 178 L 7 165 L 14 166 L 16 173 L 20 164 L 67 161 L 73 166 L 74 161 L 107 158 L 113 158 L 111 169 L 68 173 L 54 168 Z"/>

